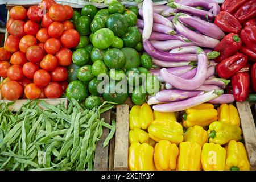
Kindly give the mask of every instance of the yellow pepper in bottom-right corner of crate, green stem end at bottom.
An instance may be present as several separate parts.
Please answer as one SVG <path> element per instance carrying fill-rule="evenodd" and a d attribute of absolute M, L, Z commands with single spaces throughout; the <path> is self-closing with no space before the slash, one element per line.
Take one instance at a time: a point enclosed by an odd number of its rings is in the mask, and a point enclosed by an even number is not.
<path fill-rule="evenodd" d="M 230 171 L 249 171 L 250 163 L 245 146 L 241 142 L 231 140 L 226 150 L 226 169 Z"/>

